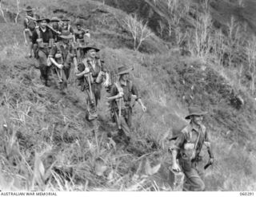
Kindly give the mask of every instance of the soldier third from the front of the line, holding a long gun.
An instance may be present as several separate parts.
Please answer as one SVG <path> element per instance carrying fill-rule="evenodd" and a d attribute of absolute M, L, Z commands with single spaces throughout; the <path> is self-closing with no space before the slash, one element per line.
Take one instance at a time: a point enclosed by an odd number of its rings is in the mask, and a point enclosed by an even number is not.
<path fill-rule="evenodd" d="M 75 67 L 76 77 L 78 77 L 81 90 L 86 90 L 88 95 L 86 101 L 89 112 L 89 120 L 96 120 L 98 117 L 97 106 L 101 98 L 103 78 L 106 77 L 103 85 L 109 85 L 110 77 L 107 69 L 102 65 L 102 61 L 96 57 L 96 53 L 100 50 L 93 43 L 87 46 L 79 46 L 86 53 L 86 58 L 82 58 L 82 63 Z"/>

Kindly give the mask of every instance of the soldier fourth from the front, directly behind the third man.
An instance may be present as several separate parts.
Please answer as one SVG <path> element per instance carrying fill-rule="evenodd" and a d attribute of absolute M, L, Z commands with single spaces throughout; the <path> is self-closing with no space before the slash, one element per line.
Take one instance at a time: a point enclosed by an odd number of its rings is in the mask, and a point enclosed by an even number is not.
<path fill-rule="evenodd" d="M 71 63 L 74 63 L 75 67 L 77 67 L 76 52 L 70 43 L 70 39 L 72 39 L 70 32 L 63 31 L 58 37 L 61 38 L 61 41 L 54 43 L 53 48 L 50 50 L 49 57 L 50 61 L 55 65 L 54 71 L 58 76 L 59 83 L 64 86 L 60 88 L 66 90 L 66 81 L 70 77 Z"/>

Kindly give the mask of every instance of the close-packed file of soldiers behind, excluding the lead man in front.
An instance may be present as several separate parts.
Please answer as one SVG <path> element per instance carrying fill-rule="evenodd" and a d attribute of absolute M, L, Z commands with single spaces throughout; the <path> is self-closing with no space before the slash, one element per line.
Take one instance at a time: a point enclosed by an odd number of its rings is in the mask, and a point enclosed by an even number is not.
<path fill-rule="evenodd" d="M 104 61 L 98 57 L 100 49 L 91 41 L 89 30 L 82 28 L 81 20 L 75 22 L 76 30 L 73 30 L 69 22 L 68 18 L 35 19 L 33 9 L 30 6 L 26 8 L 25 42 L 30 41 L 29 56 L 32 57 L 34 50 L 34 57 L 38 59 L 42 84 L 50 86 L 50 73 L 54 73 L 58 78 L 59 89 L 65 93 L 70 68 L 74 65 L 77 85 L 87 96 L 88 120 L 95 124 L 97 130 L 97 108 L 104 86 L 110 93 L 107 100 L 111 105 L 111 116 L 118 124 L 119 135 L 124 138 L 126 144 L 129 144 L 132 95 L 142 105 L 143 112 L 146 112 L 146 106 L 138 96 L 136 85 L 129 80 L 129 73 L 133 68 L 121 66 L 115 75 L 118 79 L 110 81 L 108 69 Z"/>

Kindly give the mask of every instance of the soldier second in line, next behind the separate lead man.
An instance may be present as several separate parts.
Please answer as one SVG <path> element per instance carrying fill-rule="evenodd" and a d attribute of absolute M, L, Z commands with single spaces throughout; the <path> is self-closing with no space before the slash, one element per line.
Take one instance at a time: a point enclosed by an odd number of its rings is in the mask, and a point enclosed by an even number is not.
<path fill-rule="evenodd" d="M 114 83 L 110 89 L 110 101 L 114 121 L 118 124 L 118 134 L 123 136 L 125 143 L 129 144 L 130 127 L 133 104 L 131 102 L 132 95 L 136 96 L 136 101 L 142 106 L 142 111 L 146 112 L 146 106 L 143 104 L 138 94 L 138 89 L 133 81 L 129 80 L 130 71 L 134 68 L 122 66 L 118 68 L 118 81 Z"/>

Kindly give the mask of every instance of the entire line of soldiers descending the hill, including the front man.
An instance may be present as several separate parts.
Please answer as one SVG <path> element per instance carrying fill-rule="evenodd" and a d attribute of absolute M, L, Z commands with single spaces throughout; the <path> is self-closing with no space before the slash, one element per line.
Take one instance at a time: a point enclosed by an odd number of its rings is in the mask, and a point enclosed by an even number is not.
<path fill-rule="evenodd" d="M 32 57 L 34 50 L 34 57 L 38 59 L 42 83 L 48 86 L 50 71 L 53 70 L 58 77 L 60 89 L 66 89 L 70 68 L 74 65 L 78 87 L 82 92 L 86 92 L 88 120 L 93 123 L 98 118 L 97 107 L 101 99 L 102 85 L 106 87 L 109 90 L 107 100 L 112 119 L 118 127 L 118 135 L 122 136 L 124 143 L 129 144 L 133 98 L 141 105 L 142 111 L 146 112 L 146 106 L 139 96 L 138 89 L 130 80 L 133 67 L 127 65 L 119 67 L 115 74 L 117 79 L 114 81 L 104 61 L 98 57 L 97 53 L 100 49 L 91 42 L 89 30 L 82 29 L 81 21 L 76 22 L 77 30 L 73 30 L 68 18 L 35 19 L 36 16 L 30 6 L 26 8 L 26 13 L 25 42 L 28 44 L 30 41 L 29 57 Z M 202 161 L 200 156 L 202 145 L 208 148 L 210 156 L 208 166 L 214 163 L 214 156 L 208 132 L 202 124 L 206 112 L 202 112 L 198 107 L 190 107 L 189 112 L 186 119 L 190 120 L 190 124 L 183 128 L 178 136 L 172 138 L 175 140 L 174 145 L 170 147 L 173 158 L 172 170 L 184 172 L 186 177 L 184 191 L 203 191 L 205 189 L 203 173 L 202 169 L 198 168 L 198 164 Z"/>

